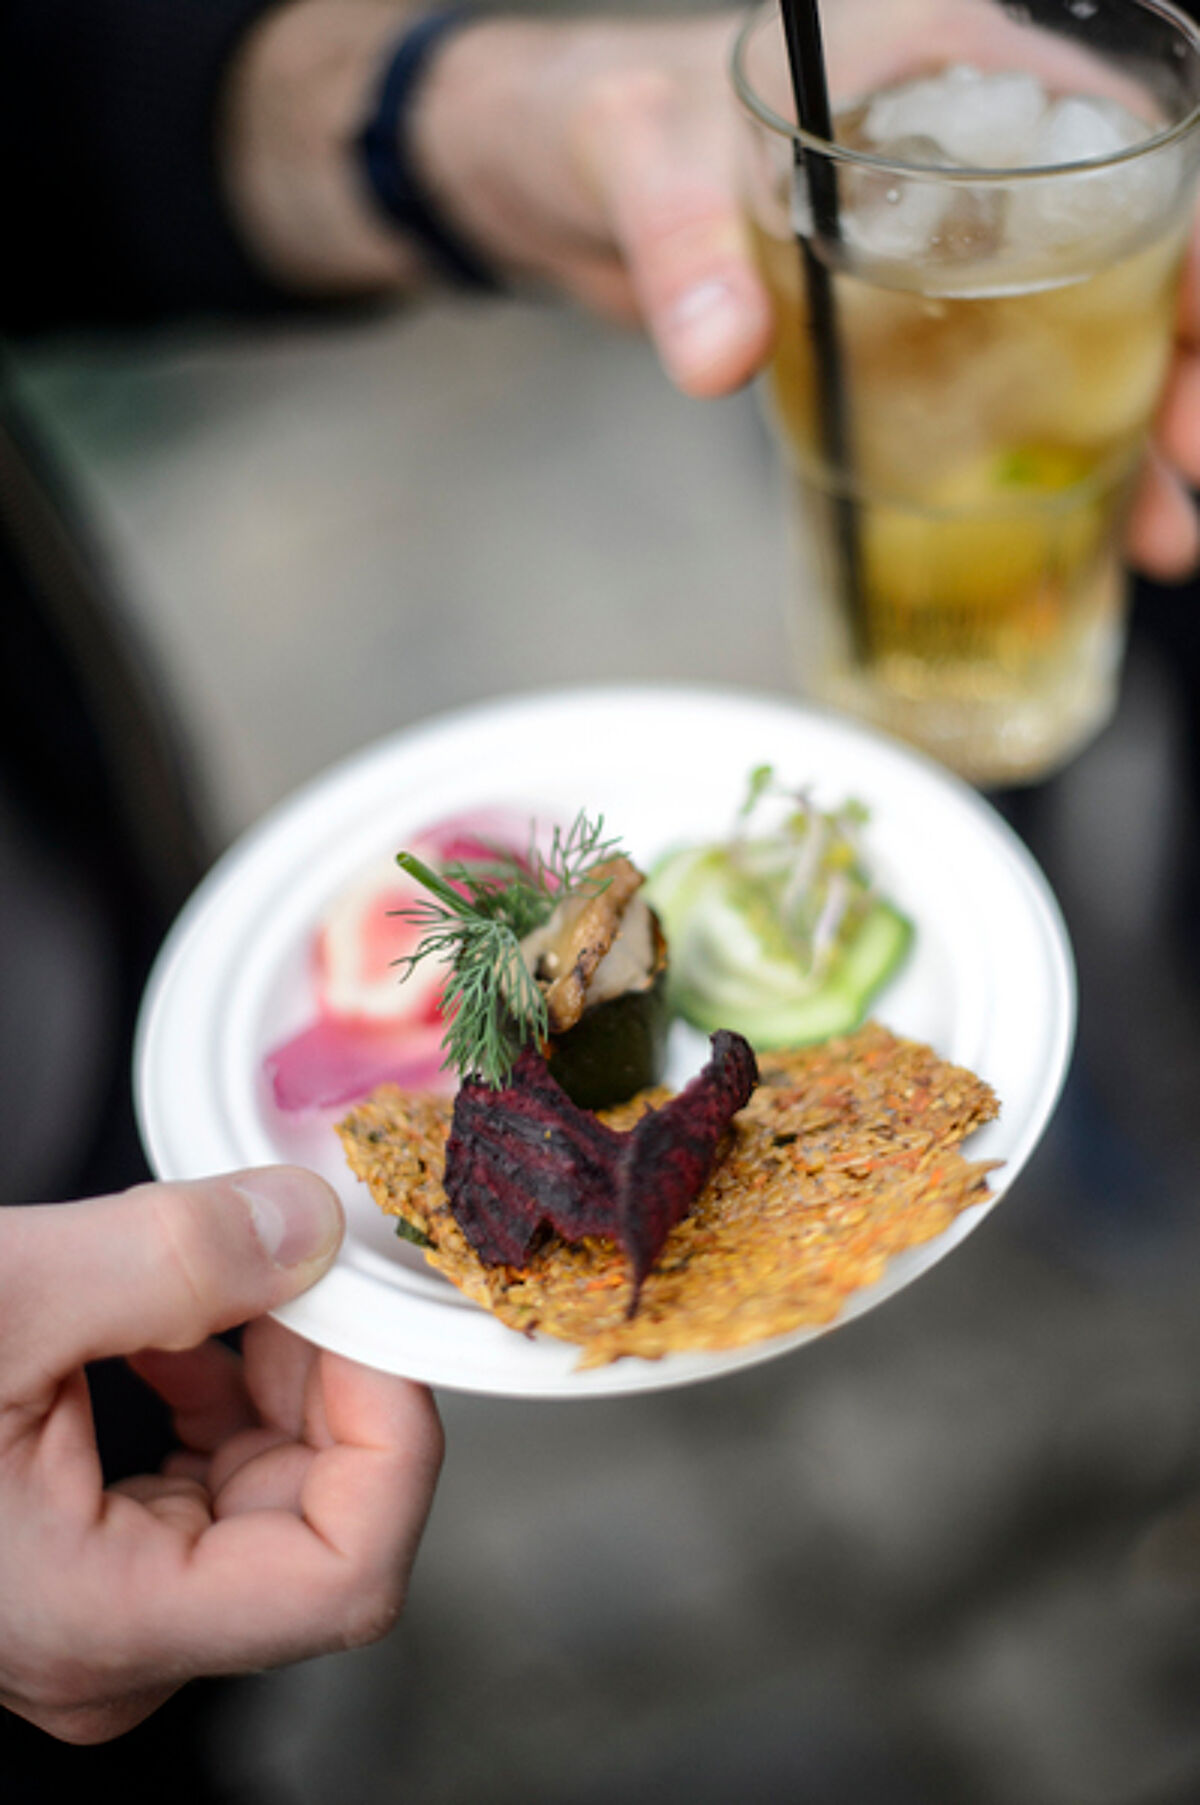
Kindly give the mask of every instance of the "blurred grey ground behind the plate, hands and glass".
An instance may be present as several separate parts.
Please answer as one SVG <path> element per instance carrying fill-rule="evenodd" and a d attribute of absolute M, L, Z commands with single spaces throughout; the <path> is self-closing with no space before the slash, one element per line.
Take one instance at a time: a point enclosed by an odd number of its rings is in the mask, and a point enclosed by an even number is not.
<path fill-rule="evenodd" d="M 92 504 L 222 839 L 437 709 L 581 679 L 787 688 L 751 395 L 568 310 L 56 343 L 22 383 Z M 1164 664 L 1043 807 L 1086 1067 L 1029 1175 L 879 1314 L 711 1386 L 446 1395 L 388 1643 L 247 1680 L 262 1805 L 1200 1800 L 1200 989 L 1140 953 L 1177 827 Z M 1048 816 L 1047 816 L 1048 810 Z M 1020 805 L 1018 805 L 1020 812 Z M 1121 883 L 1135 870 L 1133 881 Z M 1092 884 L 1094 888 L 1094 884 Z M 1121 1065 L 1121 1009 L 1169 1072 Z M 1103 1011 L 1108 1009 L 1104 1016 Z M 1144 1101 L 1144 1141 L 1106 1094 Z M 1140 1087 L 1140 1090 L 1139 1090 Z M 1151 1132 L 1168 1110 L 1175 1139 Z M 1164 1152 L 1166 1148 L 1166 1152 Z M 1193 1514 L 1195 1511 L 1195 1514 Z"/>

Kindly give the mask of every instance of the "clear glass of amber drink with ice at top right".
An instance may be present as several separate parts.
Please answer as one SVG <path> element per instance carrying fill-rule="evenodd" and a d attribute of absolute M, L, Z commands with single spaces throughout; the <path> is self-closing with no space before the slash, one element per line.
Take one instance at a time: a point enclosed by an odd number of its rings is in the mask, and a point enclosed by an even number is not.
<path fill-rule="evenodd" d="M 790 125 L 771 13 L 736 52 L 747 217 L 778 321 L 790 617 L 810 695 L 1003 785 L 1054 769 L 1113 706 L 1124 529 L 1195 197 L 1200 51 L 1182 14 L 1130 0 L 1020 18 L 922 4 L 947 61 L 906 13 L 826 0 L 834 146 Z M 821 229 L 819 157 L 835 175 Z"/>

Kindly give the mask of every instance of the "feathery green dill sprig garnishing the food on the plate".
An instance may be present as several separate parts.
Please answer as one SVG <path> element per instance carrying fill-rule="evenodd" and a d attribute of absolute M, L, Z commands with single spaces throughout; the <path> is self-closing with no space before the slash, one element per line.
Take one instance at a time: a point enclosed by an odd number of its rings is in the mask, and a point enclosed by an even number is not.
<path fill-rule="evenodd" d="M 435 872 L 415 854 L 397 852 L 401 870 L 428 890 L 397 912 L 419 931 L 415 951 L 397 960 L 401 978 L 424 958 L 449 964 L 442 991 L 444 1067 L 498 1088 L 518 1051 L 547 1038 L 545 996 L 525 964 L 522 940 L 565 897 L 599 893 L 606 879 L 597 870 L 619 852 L 619 843 L 605 838 L 603 816 L 592 821 L 583 810 L 565 832 L 554 828 L 545 852 L 534 834 L 523 857 L 498 847 L 485 859 Z"/>

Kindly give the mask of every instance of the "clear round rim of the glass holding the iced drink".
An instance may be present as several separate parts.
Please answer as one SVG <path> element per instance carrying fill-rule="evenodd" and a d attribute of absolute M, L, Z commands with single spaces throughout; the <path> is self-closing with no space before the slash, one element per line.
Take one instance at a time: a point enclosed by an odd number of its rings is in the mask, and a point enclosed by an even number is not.
<path fill-rule="evenodd" d="M 1191 49 L 1193 58 L 1200 61 L 1200 27 L 1178 7 L 1171 5 L 1169 0 L 1137 0 L 1137 9 L 1142 13 L 1155 13 L 1158 18 L 1173 25 Z M 749 42 L 758 32 L 772 14 L 778 14 L 780 0 L 762 0 L 754 5 L 747 18 L 738 27 L 736 38 L 733 42 L 733 51 L 729 56 L 729 74 L 733 79 L 734 92 L 745 108 L 745 112 L 765 126 L 776 137 L 785 137 L 792 144 L 799 144 L 803 150 L 825 157 L 828 162 L 841 162 L 852 168 L 875 170 L 882 175 L 897 179 L 926 177 L 944 182 L 1029 182 L 1045 180 L 1047 177 L 1063 175 L 1088 175 L 1097 170 L 1115 170 L 1126 162 L 1139 162 L 1151 152 L 1164 150 L 1169 144 L 1178 144 L 1200 125 L 1200 101 L 1177 119 L 1175 125 L 1166 126 L 1162 132 L 1155 132 L 1151 137 L 1142 137 L 1137 144 L 1126 144 L 1122 150 L 1110 150 L 1103 157 L 1085 157 L 1075 162 L 1038 162 L 1038 164 L 996 164 L 994 168 L 953 164 L 946 168 L 938 162 L 904 162 L 899 157 L 882 157 L 870 150 L 854 150 L 850 144 L 837 144 L 830 139 L 819 137 L 814 132 L 807 132 L 803 126 L 794 125 L 785 119 L 772 106 L 763 101 L 745 70 L 745 58 Z"/>

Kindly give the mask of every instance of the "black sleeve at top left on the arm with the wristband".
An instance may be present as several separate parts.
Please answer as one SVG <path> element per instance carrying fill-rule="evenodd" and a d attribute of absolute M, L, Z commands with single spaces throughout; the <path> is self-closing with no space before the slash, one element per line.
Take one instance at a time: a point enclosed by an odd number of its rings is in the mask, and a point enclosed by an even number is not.
<path fill-rule="evenodd" d="M 217 168 L 224 70 L 272 0 L 0 0 L 7 330 L 263 310 Z"/>

